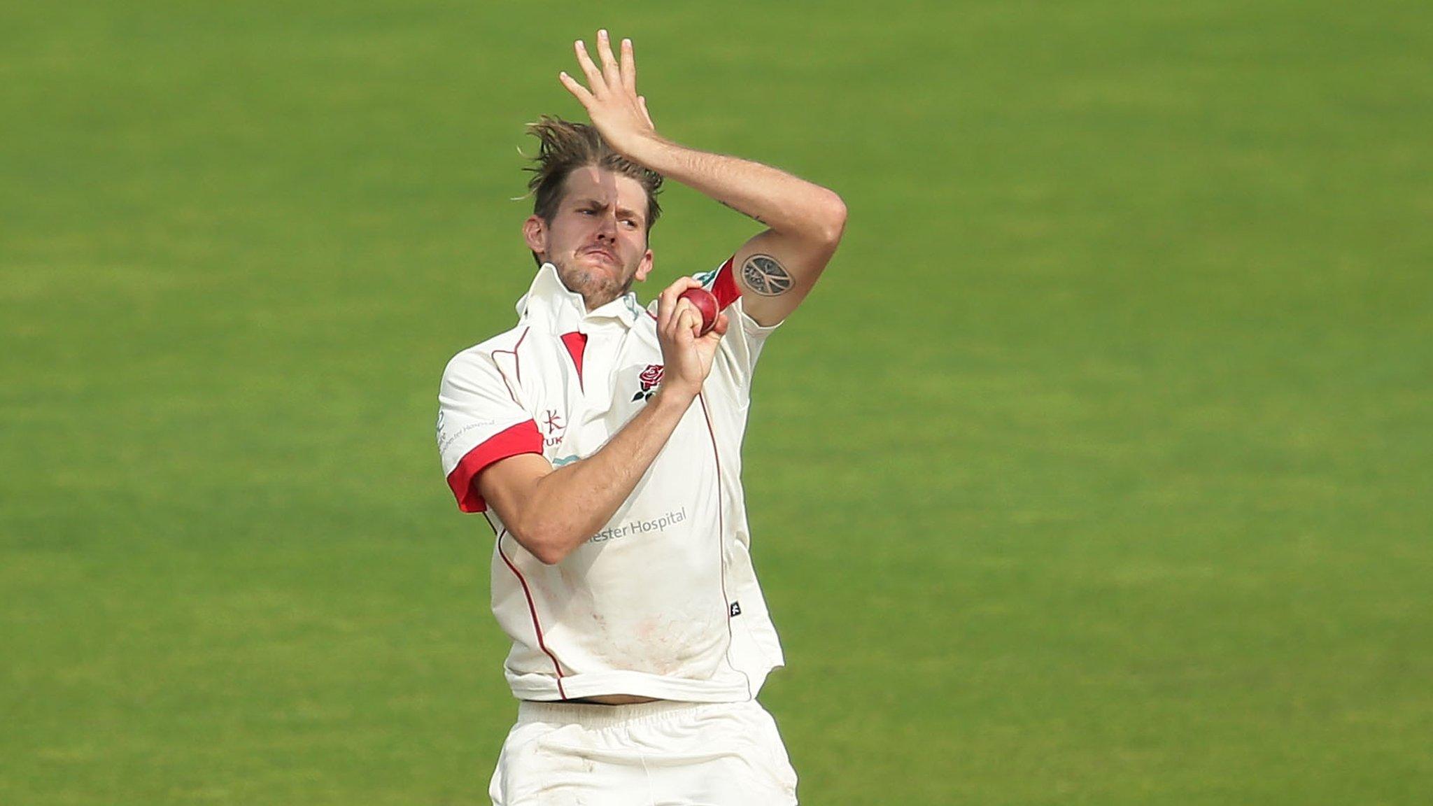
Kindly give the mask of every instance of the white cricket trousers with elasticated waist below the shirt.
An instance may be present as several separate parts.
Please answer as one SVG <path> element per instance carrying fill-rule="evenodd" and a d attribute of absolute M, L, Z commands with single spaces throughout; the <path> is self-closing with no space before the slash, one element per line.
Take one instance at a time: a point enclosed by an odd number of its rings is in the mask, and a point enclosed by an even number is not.
<path fill-rule="evenodd" d="M 493 806 L 794 806 L 797 774 L 757 701 L 517 708 Z"/>

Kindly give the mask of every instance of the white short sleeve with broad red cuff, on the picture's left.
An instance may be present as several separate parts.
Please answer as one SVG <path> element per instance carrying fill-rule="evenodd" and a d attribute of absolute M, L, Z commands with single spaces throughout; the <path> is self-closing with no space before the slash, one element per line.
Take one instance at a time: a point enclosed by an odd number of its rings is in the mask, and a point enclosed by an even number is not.
<path fill-rule="evenodd" d="M 438 455 L 449 489 L 463 512 L 483 512 L 487 502 L 473 486 L 483 468 L 519 453 L 542 453 L 542 435 L 517 403 L 490 354 L 459 353 L 438 389 Z"/>

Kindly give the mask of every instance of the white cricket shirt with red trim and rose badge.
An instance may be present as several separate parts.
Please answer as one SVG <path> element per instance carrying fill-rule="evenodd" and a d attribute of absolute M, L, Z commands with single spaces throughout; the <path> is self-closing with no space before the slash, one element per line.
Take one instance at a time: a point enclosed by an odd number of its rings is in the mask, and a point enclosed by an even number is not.
<path fill-rule="evenodd" d="M 438 393 L 443 472 L 463 512 L 483 512 L 493 614 L 513 640 L 519 700 L 636 694 L 684 701 L 757 696 L 781 644 L 751 565 L 741 439 L 765 337 L 742 311 L 731 261 L 698 275 L 727 310 L 702 394 L 616 515 L 556 565 L 507 534 L 474 476 L 517 453 L 553 466 L 600 449 L 662 376 L 656 303 L 588 313 L 550 264 L 517 301 L 517 327 L 449 361 Z"/>

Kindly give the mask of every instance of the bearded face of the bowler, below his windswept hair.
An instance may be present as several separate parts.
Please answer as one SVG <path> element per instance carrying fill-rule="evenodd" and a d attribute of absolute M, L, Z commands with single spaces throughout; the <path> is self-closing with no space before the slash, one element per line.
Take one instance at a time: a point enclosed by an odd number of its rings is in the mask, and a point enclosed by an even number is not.
<path fill-rule="evenodd" d="M 628 293 L 652 271 L 646 248 L 646 191 L 631 176 L 586 166 L 567 175 L 552 221 L 523 224 L 527 247 L 557 267 L 557 277 L 582 294 L 588 310 Z"/>

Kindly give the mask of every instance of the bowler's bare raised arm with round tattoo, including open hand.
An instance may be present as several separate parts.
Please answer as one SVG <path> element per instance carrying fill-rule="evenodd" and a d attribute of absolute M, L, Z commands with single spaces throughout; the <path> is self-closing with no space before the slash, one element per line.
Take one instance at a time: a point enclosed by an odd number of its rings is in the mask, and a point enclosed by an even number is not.
<path fill-rule="evenodd" d="M 600 66 L 582 40 L 575 47 L 586 85 L 567 73 L 559 80 L 613 149 L 767 225 L 737 250 L 734 268 L 751 318 L 759 324 L 785 318 L 835 254 L 845 229 L 841 196 L 770 165 L 668 141 L 656 133 L 646 99 L 636 92 L 632 40 L 622 40 L 618 57 L 608 32 L 598 32 Z"/>

